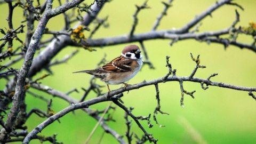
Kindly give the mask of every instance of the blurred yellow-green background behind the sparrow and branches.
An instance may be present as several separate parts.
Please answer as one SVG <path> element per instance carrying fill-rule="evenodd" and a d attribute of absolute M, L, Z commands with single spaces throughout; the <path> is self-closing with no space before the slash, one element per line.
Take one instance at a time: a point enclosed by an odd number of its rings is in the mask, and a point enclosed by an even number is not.
<path fill-rule="evenodd" d="M 64 3 L 65 1 L 63 1 Z M 136 8 L 135 4 L 141 5 L 144 1 L 112 1 L 106 3 L 99 13 L 99 17 L 104 18 L 109 15 L 109 28 L 101 27 L 93 38 L 113 37 L 118 35 L 128 34 L 133 23 L 132 15 Z M 92 1 L 85 1 L 90 4 Z M 172 3 L 172 7 L 167 11 L 167 16 L 161 21 L 158 30 L 180 28 L 195 16 L 206 10 L 215 1 L 185 1 L 176 0 Z M 235 20 L 235 9 L 240 14 L 241 22 L 237 26 L 249 26 L 250 21 L 256 22 L 256 1 L 234 1 L 244 7 L 244 11 L 236 6 L 224 5 L 217 11 L 212 13 L 211 17 L 206 17 L 202 22 L 203 25 L 199 28 L 200 32 L 214 31 L 225 29 Z M 139 24 L 136 27 L 135 34 L 145 33 L 151 30 L 159 13 L 163 10 L 161 1 L 148 1 L 150 9 L 142 10 L 139 15 Z M 54 7 L 58 6 L 57 1 L 54 1 Z M 0 28 L 8 28 L 7 4 L 1 4 Z M 17 28 L 23 20 L 22 9 L 19 7 L 14 10 L 14 28 Z M 61 30 L 63 23 L 63 15 L 58 15 L 52 18 L 47 24 L 50 30 Z M 93 25 L 90 25 L 93 29 Z M 84 34 L 89 36 L 89 32 L 84 31 Z M 226 38 L 229 37 L 228 35 Z M 22 37 L 21 37 L 22 38 Z M 45 36 L 43 38 L 46 38 Z M 24 39 L 24 37 L 23 37 Z M 241 35 L 238 41 L 244 43 L 252 43 L 250 36 Z M 196 55 L 200 54 L 201 65 L 205 65 L 206 69 L 198 69 L 195 77 L 207 78 L 213 73 L 218 73 L 218 76 L 211 78 L 211 81 L 222 82 L 232 85 L 256 87 L 256 53 L 250 50 L 241 50 L 238 47 L 229 46 L 224 50 L 223 45 L 210 44 L 205 42 L 199 43 L 195 40 L 179 41 L 169 46 L 170 40 L 156 39 L 145 41 L 145 46 L 148 51 L 149 58 L 153 62 L 155 69 L 149 69 L 146 65 L 129 84 L 140 83 L 144 80 L 163 77 L 167 73 L 165 67 L 165 56 L 170 55 L 170 62 L 173 69 L 177 69 L 178 76 L 189 76 L 195 67 L 195 62 L 191 61 L 190 52 Z M 16 44 L 16 45 L 15 45 Z M 14 44 L 18 46 L 17 43 Z M 132 43 L 138 44 L 139 43 Z M 74 71 L 93 69 L 106 53 L 107 60 L 112 60 L 117 57 L 124 46 L 128 44 L 106 46 L 101 49 L 95 47 L 96 52 L 89 52 L 81 49 L 74 58 L 68 61 L 67 64 L 61 64 L 52 67 L 53 75 L 43 79 L 41 82 L 55 90 L 68 92 L 73 88 L 77 88 L 79 93 L 70 94 L 75 99 L 80 99 L 83 95 L 81 87 L 87 88 L 90 84 L 90 75 L 87 74 L 72 74 Z M 66 54 L 71 53 L 77 47 L 66 47 L 62 50 L 55 59 L 62 59 Z M 39 52 L 39 51 L 38 51 Z M 37 53 L 38 53 L 37 52 Z M 7 60 L 6 60 L 7 61 Z M 3 65 L 6 61 L 3 61 Z M 19 62 L 11 67 L 20 69 L 22 62 Z M 35 78 L 46 74 L 43 70 L 37 74 Z M 5 79 L 0 79 L 1 90 Z M 101 85 L 104 83 L 97 81 Z M 159 124 L 165 127 L 159 127 L 151 118 L 151 123 L 154 127 L 149 129 L 146 121 L 141 121 L 141 124 L 146 128 L 147 132 L 153 133 L 153 137 L 158 139 L 158 143 L 256 143 L 256 103 L 255 100 L 248 96 L 248 92 L 235 91 L 220 87 L 210 86 L 209 89 L 203 90 L 198 83 L 184 82 L 184 89 L 194 91 L 195 99 L 189 95 L 185 95 L 184 106 L 180 107 L 180 87 L 178 82 L 167 82 L 159 84 L 161 110 L 170 115 L 157 115 Z M 118 89 L 119 85 L 110 85 L 110 89 Z M 53 99 L 52 109 L 60 111 L 68 107 L 70 104 L 53 98 L 51 95 L 30 89 L 37 92 L 43 97 Z M 103 87 L 107 92 L 107 87 Z M 254 95 L 256 93 L 254 92 Z M 126 107 L 134 107 L 133 114 L 135 116 L 148 116 L 153 114 L 157 105 L 155 99 L 155 86 L 142 87 L 138 90 L 130 91 L 129 94 L 124 93 L 122 100 Z M 47 110 L 47 103 L 34 98 L 32 95 L 26 95 L 27 110 L 31 108 L 40 108 Z M 96 97 L 96 94 L 91 92 L 88 99 Z M 99 103 L 91 106 L 92 109 L 104 109 L 109 102 Z M 114 105 L 113 105 L 114 106 Z M 112 111 L 110 111 L 111 113 Z M 126 132 L 125 119 L 123 118 L 124 111 L 117 108 L 114 114 L 116 122 L 110 122 L 109 126 L 117 133 L 124 135 Z M 31 131 L 35 126 L 42 123 L 45 118 L 39 118 L 33 114 L 27 121 L 28 131 Z M 64 143 L 84 143 L 94 125 L 97 123 L 93 118 L 85 114 L 82 110 L 76 110 L 75 115 L 67 114 L 60 118 L 61 123 L 54 122 L 46 127 L 40 134 L 50 136 L 57 133 L 58 142 Z M 142 131 L 138 128 L 135 122 L 132 123 L 134 133 L 142 136 Z M 101 137 L 103 130 L 98 127 L 93 134 L 89 143 L 97 143 Z M 126 138 L 124 137 L 126 140 Z M 135 139 L 135 138 L 134 138 Z M 17 142 L 20 143 L 20 142 Z M 38 140 L 32 140 L 31 143 L 39 143 Z M 45 142 L 49 143 L 49 142 Z M 102 143 L 118 143 L 110 134 L 105 134 Z M 133 141 L 135 143 L 135 140 Z M 149 142 L 147 142 L 149 143 Z"/>

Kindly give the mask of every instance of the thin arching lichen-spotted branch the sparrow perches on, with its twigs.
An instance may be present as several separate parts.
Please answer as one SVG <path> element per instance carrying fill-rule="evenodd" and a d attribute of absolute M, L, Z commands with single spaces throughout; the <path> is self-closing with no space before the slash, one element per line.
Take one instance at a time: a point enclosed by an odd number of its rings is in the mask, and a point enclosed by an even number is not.
<path fill-rule="evenodd" d="M 197 63 L 198 63 L 198 61 L 197 61 Z M 193 93 L 195 91 L 193 91 L 193 92 L 185 91 L 183 89 L 183 85 L 182 85 L 183 82 L 188 81 L 188 82 L 195 82 L 195 83 L 199 83 L 199 84 L 206 84 L 207 86 L 211 85 L 211 86 L 225 87 L 225 88 L 228 88 L 228 89 L 233 89 L 233 90 L 238 90 L 238 91 L 247 91 L 247 92 L 250 92 L 249 95 L 253 95 L 253 94 L 251 94 L 252 91 L 254 91 L 254 92 L 256 91 L 256 87 L 243 87 L 243 86 L 235 86 L 235 85 L 225 84 L 225 83 L 221 83 L 221 82 L 212 82 L 212 81 L 210 81 L 210 78 L 202 79 L 202 78 L 196 78 L 196 77 L 191 77 L 191 76 L 179 77 L 177 75 L 173 75 L 173 76 L 167 77 L 167 78 L 161 77 L 161 78 L 157 78 L 157 79 L 154 79 L 154 80 L 151 80 L 151 81 L 143 81 L 143 82 L 138 83 L 138 84 L 128 85 L 128 86 L 125 87 L 125 89 L 123 89 L 123 87 L 122 87 L 120 89 L 110 91 L 109 93 L 106 93 L 106 94 L 102 95 L 101 97 L 97 97 L 97 98 L 93 98 L 91 100 L 87 100 L 87 101 L 84 101 L 84 102 L 76 103 L 77 102 L 76 100 L 73 100 L 72 98 L 68 97 L 68 95 L 66 95 L 66 94 L 51 90 L 51 89 L 49 89 L 49 87 L 47 87 L 47 89 L 45 89 L 44 87 L 42 87 L 39 84 L 32 84 L 31 85 L 32 87 L 37 87 L 37 89 L 48 92 L 48 93 L 51 93 L 52 95 L 59 95 L 59 97 L 61 97 L 63 99 L 67 99 L 67 101 L 74 101 L 75 104 L 59 111 L 59 113 L 51 116 L 50 118 L 46 119 L 46 121 L 39 124 L 33 131 L 31 131 L 27 135 L 27 137 L 25 138 L 25 140 L 23 142 L 28 143 L 31 140 L 31 138 L 33 138 L 38 132 L 41 132 L 47 125 L 53 123 L 58 118 L 66 115 L 70 111 L 73 111 L 73 110 L 76 110 L 76 109 L 79 109 L 79 108 L 87 108 L 88 109 L 89 106 L 94 105 L 95 103 L 99 103 L 99 102 L 103 102 L 103 101 L 109 101 L 109 100 L 113 100 L 114 103 L 116 103 L 116 105 L 123 108 L 126 111 L 126 113 L 129 114 L 134 119 L 134 121 L 138 124 L 138 126 L 141 128 L 141 130 L 148 137 L 148 139 L 150 141 L 156 142 L 157 140 L 155 140 L 151 135 L 149 135 L 145 131 L 145 129 L 140 125 L 140 123 L 137 122 L 138 121 L 137 118 L 135 116 L 133 116 L 131 113 L 129 113 L 129 110 L 127 110 L 127 108 L 125 108 L 121 103 L 119 103 L 116 99 L 113 99 L 111 97 L 113 97 L 116 94 L 123 93 L 125 91 L 139 89 L 140 87 L 143 87 L 143 86 L 157 85 L 158 83 L 171 82 L 171 81 L 179 82 L 180 87 L 181 87 L 181 94 L 186 93 L 186 94 L 191 95 L 191 97 L 194 97 Z M 158 91 L 157 86 L 156 86 L 156 91 Z M 159 98 L 158 98 L 158 101 L 159 101 Z M 181 99 L 181 106 L 183 106 L 183 95 L 182 95 L 182 99 Z M 87 109 L 84 109 L 84 110 L 87 110 Z"/>

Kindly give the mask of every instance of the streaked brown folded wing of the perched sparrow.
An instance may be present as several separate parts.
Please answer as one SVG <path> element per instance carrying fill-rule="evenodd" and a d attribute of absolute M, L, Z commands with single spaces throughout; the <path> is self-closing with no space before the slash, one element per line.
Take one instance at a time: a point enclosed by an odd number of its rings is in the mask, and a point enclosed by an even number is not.
<path fill-rule="evenodd" d="M 114 60 L 106 63 L 101 68 L 107 72 L 126 72 L 131 71 L 131 65 L 134 60 L 126 59 L 122 55 L 115 58 Z"/>

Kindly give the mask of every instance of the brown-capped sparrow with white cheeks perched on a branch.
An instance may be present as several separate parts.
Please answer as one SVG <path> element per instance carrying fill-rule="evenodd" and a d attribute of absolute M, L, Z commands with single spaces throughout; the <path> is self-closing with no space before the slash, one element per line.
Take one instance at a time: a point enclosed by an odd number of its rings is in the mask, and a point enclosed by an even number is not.
<path fill-rule="evenodd" d="M 108 86 L 108 93 L 110 92 L 109 84 L 117 85 L 124 84 L 126 81 L 133 78 L 143 65 L 143 56 L 140 54 L 140 48 L 137 45 L 128 45 L 124 47 L 121 55 L 109 63 L 106 63 L 101 68 L 92 70 L 77 71 L 74 73 L 87 73 L 100 78 Z"/>

